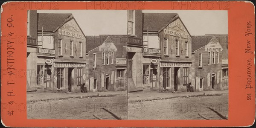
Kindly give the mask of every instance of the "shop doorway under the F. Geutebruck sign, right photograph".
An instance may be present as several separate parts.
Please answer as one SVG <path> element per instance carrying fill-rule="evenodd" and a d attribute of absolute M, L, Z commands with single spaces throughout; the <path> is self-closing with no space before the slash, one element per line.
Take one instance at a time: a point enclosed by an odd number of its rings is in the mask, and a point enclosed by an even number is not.
<path fill-rule="evenodd" d="M 150 66 L 150 90 L 157 89 L 157 65 Z"/>

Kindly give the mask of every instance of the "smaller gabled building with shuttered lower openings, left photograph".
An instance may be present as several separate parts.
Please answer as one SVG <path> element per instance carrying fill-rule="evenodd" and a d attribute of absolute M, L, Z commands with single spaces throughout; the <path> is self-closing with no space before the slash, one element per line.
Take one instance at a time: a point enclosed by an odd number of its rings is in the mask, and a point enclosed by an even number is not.
<path fill-rule="evenodd" d="M 115 91 L 116 46 L 109 36 L 87 37 L 90 92 Z"/>

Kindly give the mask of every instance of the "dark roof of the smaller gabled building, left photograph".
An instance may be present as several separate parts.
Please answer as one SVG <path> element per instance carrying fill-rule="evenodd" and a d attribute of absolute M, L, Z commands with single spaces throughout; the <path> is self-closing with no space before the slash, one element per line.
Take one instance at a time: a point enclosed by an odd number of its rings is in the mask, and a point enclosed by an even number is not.
<path fill-rule="evenodd" d="M 104 42 L 113 43 L 109 36 L 86 36 L 86 52 L 101 46 Z M 115 44 L 113 43 L 115 46 Z M 115 46 L 116 47 L 116 46 Z M 116 48 L 117 49 L 117 48 Z"/>

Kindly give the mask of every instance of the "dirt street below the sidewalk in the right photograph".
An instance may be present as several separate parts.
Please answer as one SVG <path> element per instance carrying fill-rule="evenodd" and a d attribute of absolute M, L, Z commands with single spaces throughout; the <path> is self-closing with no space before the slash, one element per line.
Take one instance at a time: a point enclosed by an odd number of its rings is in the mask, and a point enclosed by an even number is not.
<path fill-rule="evenodd" d="M 128 102 L 128 119 L 227 119 L 228 94 Z"/>

